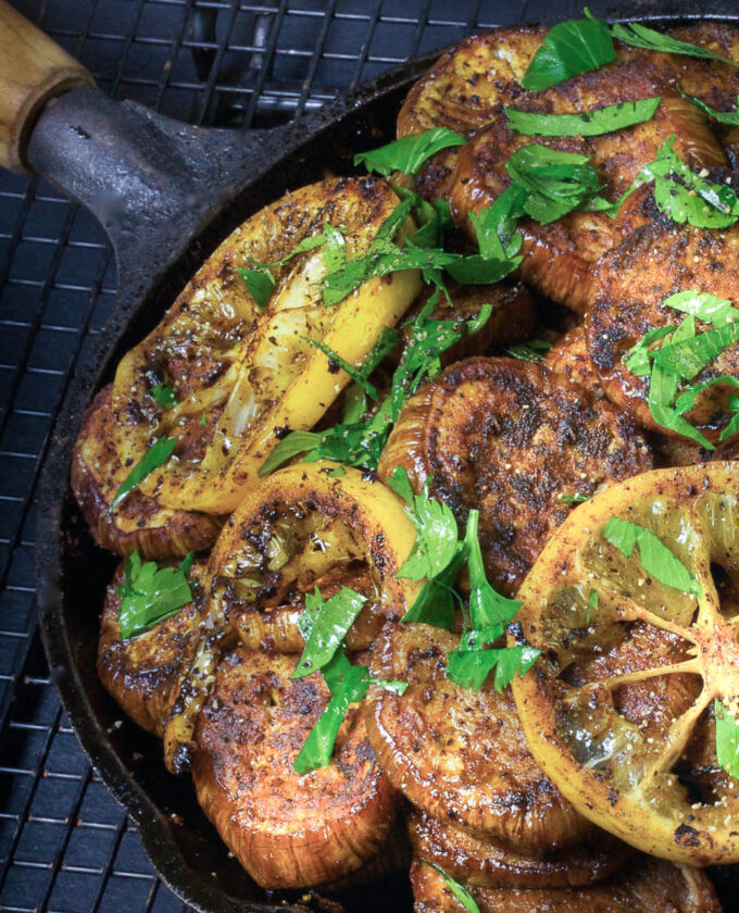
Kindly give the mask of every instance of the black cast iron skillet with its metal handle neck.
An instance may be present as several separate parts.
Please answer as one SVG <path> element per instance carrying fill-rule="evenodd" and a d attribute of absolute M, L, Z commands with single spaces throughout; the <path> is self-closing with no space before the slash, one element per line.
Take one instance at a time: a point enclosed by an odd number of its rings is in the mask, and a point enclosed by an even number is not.
<path fill-rule="evenodd" d="M 1 3 L 0 25 L 12 13 Z M 711 15 L 739 21 L 731 7 L 714 4 Z M 609 15 L 608 9 L 597 12 Z M 697 17 L 687 3 L 669 9 L 637 3 L 611 12 L 613 18 L 650 18 L 657 26 Z M 251 134 L 197 129 L 139 104 L 112 102 L 96 88 L 75 88 L 46 105 L 17 147 L 23 165 L 98 216 L 118 265 L 115 309 L 72 380 L 42 474 L 36 534 L 41 637 L 64 709 L 91 763 L 135 821 L 162 878 L 203 913 L 340 908 L 312 892 L 267 896 L 258 889 L 228 858 L 189 778 L 165 772 L 160 742 L 126 720 L 100 685 L 98 617 L 116 559 L 95 546 L 71 497 L 72 448 L 93 393 L 112 379 L 121 357 L 156 324 L 216 245 L 286 189 L 327 171 L 351 173 L 354 152 L 392 138 L 408 88 L 437 57 L 392 70 L 288 127 Z M 77 85 L 84 82 L 78 78 Z M 725 909 L 739 909 L 739 877 L 727 868 L 716 877 Z M 381 897 L 389 909 L 410 910 L 405 880 L 349 892 L 341 902 L 369 911 Z"/>

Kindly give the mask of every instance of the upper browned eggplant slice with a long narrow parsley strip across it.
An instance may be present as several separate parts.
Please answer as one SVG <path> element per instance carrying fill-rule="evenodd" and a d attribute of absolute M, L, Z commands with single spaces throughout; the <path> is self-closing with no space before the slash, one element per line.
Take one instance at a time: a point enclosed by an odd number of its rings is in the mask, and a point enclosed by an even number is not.
<path fill-rule="evenodd" d="M 704 115 L 647 65 L 616 62 L 521 98 L 516 107 L 563 114 L 652 96 L 661 96 L 662 102 L 651 121 L 588 138 L 516 135 L 499 110 L 490 124 L 459 152 L 450 199 L 455 221 L 472 230 L 467 214 L 489 207 L 509 186 L 505 163 L 516 149 L 530 142 L 591 157 L 591 164 L 602 176 L 602 196 L 610 200 L 616 200 L 628 188 L 642 165 L 656 158 L 657 149 L 672 135 L 676 137 L 677 151 L 691 165 L 726 166 L 727 160 Z M 576 212 L 550 225 L 527 220 L 522 229 L 524 279 L 553 300 L 584 312 L 592 265 L 621 239 L 618 225 L 603 213 Z"/>

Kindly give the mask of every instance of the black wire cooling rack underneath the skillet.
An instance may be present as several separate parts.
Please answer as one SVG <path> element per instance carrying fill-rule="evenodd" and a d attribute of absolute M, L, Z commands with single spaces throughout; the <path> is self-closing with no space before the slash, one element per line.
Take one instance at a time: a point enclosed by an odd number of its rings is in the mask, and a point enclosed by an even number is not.
<path fill-rule="evenodd" d="M 13 0 L 116 99 L 268 127 L 473 30 L 551 14 L 486 0 Z M 554 4 L 571 15 L 569 0 Z M 54 415 L 115 300 L 86 211 L 0 174 L 0 909 L 185 908 L 77 745 L 35 633 L 35 491 Z"/>

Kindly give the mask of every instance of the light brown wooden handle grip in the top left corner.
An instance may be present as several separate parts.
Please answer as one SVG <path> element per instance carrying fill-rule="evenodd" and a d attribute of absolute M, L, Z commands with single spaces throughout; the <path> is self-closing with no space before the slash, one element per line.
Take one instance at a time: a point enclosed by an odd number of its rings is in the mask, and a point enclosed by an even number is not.
<path fill-rule="evenodd" d="M 0 0 L 0 165 L 25 171 L 28 137 L 47 101 L 91 85 L 84 66 Z"/>

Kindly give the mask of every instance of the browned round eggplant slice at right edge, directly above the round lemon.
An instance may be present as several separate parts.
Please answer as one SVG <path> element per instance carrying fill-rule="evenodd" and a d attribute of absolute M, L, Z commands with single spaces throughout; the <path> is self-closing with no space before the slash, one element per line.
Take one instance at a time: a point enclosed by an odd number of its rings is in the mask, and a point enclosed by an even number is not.
<path fill-rule="evenodd" d="M 631 374 L 622 357 L 650 329 L 680 323 L 685 315 L 662 304 L 667 296 L 696 289 L 736 298 L 738 258 L 736 228 L 716 232 L 660 223 L 638 228 L 599 261 L 586 320 L 588 352 L 609 399 L 644 427 L 678 437 L 652 417 L 649 377 Z M 711 327 L 698 322 L 697 328 Z M 725 349 L 690 384 L 722 374 L 739 375 L 739 347 Z M 686 415 L 714 443 L 729 421 L 728 395 L 726 388 L 711 387 Z"/>

